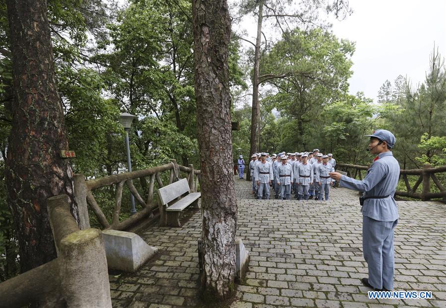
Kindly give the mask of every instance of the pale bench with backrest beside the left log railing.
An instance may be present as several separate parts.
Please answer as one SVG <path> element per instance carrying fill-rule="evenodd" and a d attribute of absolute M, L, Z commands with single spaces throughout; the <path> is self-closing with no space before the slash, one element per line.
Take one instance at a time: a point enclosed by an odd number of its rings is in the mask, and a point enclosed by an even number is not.
<path fill-rule="evenodd" d="M 179 214 L 189 205 L 198 208 L 200 192 L 189 192 L 186 179 L 179 180 L 158 189 L 158 207 L 160 209 L 160 226 L 181 227 Z M 179 197 L 181 199 L 177 200 Z"/>

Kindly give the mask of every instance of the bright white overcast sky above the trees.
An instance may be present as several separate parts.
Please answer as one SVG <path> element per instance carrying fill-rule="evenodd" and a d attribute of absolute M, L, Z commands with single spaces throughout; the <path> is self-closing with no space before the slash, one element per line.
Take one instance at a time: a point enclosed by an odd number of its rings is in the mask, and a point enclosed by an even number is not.
<path fill-rule="evenodd" d="M 376 102 L 386 80 L 393 84 L 402 75 L 412 86 L 423 82 L 434 44 L 446 57 L 446 0 L 349 0 L 349 6 L 353 13 L 344 20 L 325 18 L 333 23 L 331 31 L 338 38 L 356 42 L 350 94 L 362 91 Z M 256 19 L 245 17 L 240 26 L 255 41 Z M 242 29 L 233 26 L 233 30 Z"/>

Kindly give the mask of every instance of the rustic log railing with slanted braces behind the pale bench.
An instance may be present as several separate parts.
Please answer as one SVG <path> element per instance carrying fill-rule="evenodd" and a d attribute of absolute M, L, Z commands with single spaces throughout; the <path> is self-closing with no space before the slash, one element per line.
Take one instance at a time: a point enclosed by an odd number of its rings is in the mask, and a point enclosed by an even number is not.
<path fill-rule="evenodd" d="M 172 159 L 169 164 L 148 168 L 139 171 L 120 173 L 112 176 L 107 176 L 103 178 L 98 178 L 94 180 L 85 181 L 83 175 L 78 175 L 75 177 L 75 191 L 76 191 L 76 201 L 78 207 L 87 208 L 87 206 L 93 211 L 98 222 L 104 229 L 113 230 L 127 230 L 135 223 L 143 219 L 144 217 L 153 217 L 153 211 L 158 209 L 158 203 L 154 200 L 154 195 L 158 188 L 164 187 L 165 184 L 162 181 L 161 174 L 164 172 L 169 172 L 168 184 L 181 179 L 181 172 L 186 174 L 186 178 L 189 183 L 190 191 L 194 192 L 198 190 L 200 170 L 195 170 L 193 165 L 189 167 L 184 167 L 178 165 L 176 160 Z M 147 178 L 150 178 L 147 181 Z M 148 187 L 147 191 L 142 195 L 137 191 L 135 185 L 133 185 L 132 180 L 140 179 L 144 183 L 145 187 Z M 93 191 L 106 186 L 116 185 L 115 188 L 115 200 L 114 208 L 112 211 L 111 223 L 101 209 L 100 204 L 96 202 Z M 129 218 L 119 221 L 119 215 L 121 213 L 121 202 L 122 202 L 122 192 L 124 185 L 127 185 L 130 192 L 133 194 L 135 201 L 141 205 L 142 210 L 131 215 Z M 143 196 L 145 198 L 143 198 Z M 83 217 L 83 221 L 88 219 L 88 211 L 80 210 L 80 217 Z M 82 213 L 84 213 L 82 215 Z M 85 214 L 86 213 L 86 214 Z M 82 221 L 81 221 L 82 224 Z M 87 226 L 88 227 L 88 226 Z"/>

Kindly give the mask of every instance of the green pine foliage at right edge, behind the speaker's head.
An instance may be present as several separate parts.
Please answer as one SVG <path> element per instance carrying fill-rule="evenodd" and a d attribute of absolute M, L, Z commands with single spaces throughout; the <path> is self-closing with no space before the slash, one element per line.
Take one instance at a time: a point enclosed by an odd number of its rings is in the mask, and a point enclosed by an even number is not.
<path fill-rule="evenodd" d="M 440 144 L 446 131 L 446 67 L 435 50 L 430 60 L 426 80 L 418 88 L 401 76 L 393 87 L 383 85 L 391 93 L 381 108 L 383 128 L 395 134 L 393 153 L 406 169 L 444 163 Z"/>

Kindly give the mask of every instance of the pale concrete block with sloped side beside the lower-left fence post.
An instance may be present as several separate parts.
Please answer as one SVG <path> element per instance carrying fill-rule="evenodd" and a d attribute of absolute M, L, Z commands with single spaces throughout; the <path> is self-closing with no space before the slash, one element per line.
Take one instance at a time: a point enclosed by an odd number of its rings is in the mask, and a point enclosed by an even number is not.
<path fill-rule="evenodd" d="M 158 250 L 131 232 L 104 230 L 102 238 L 109 268 L 125 272 L 135 272 Z"/>

